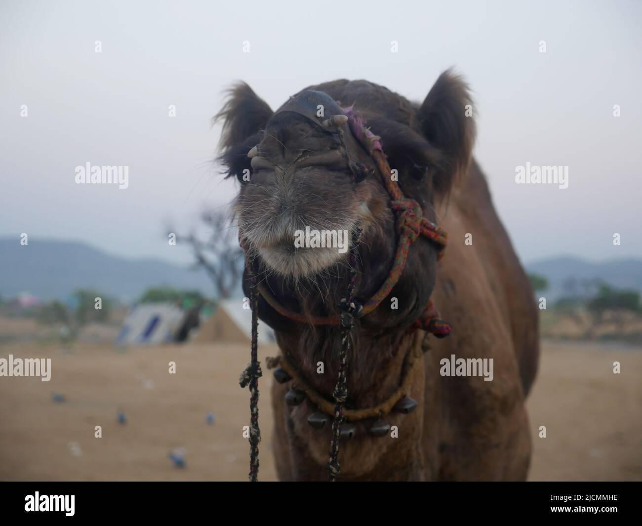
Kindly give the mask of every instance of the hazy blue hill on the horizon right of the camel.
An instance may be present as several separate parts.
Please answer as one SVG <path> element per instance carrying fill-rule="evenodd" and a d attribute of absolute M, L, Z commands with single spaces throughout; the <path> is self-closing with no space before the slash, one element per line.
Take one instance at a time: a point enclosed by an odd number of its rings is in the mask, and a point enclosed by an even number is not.
<path fill-rule="evenodd" d="M 570 279 L 580 282 L 601 279 L 616 288 L 632 288 L 642 292 L 642 259 L 627 258 L 593 263 L 585 259 L 562 256 L 541 259 L 526 265 L 528 272 L 546 276 L 546 296 L 555 299 L 564 294 Z"/>

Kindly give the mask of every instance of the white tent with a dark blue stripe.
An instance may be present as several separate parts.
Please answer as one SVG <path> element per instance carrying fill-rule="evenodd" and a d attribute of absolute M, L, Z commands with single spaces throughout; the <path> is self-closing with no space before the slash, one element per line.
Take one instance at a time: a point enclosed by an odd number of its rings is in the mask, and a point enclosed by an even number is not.
<path fill-rule="evenodd" d="M 141 303 L 123 321 L 116 338 L 119 345 L 171 342 L 186 312 L 173 303 Z"/>

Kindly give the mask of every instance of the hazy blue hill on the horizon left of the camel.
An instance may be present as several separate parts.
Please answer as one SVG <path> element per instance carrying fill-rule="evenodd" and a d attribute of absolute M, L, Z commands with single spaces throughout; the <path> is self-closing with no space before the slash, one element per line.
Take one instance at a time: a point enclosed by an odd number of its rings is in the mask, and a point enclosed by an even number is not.
<path fill-rule="evenodd" d="M 0 295 L 30 292 L 42 300 L 63 298 L 76 288 L 92 288 L 132 301 L 150 286 L 200 290 L 214 295 L 204 270 L 191 270 L 160 259 L 126 259 L 75 241 L 0 238 Z"/>

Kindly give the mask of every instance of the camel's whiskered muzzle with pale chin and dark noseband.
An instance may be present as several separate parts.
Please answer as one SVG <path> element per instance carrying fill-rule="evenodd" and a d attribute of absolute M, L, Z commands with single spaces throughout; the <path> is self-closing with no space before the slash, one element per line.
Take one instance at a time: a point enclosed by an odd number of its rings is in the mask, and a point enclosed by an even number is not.
<path fill-rule="evenodd" d="M 324 119 L 309 113 L 313 119 L 287 110 L 270 118 L 236 201 L 246 243 L 284 277 L 311 278 L 345 265 L 358 232 L 377 229 L 372 211 L 385 198 L 380 177 L 366 168 L 374 164 L 349 129 L 325 129 Z"/>

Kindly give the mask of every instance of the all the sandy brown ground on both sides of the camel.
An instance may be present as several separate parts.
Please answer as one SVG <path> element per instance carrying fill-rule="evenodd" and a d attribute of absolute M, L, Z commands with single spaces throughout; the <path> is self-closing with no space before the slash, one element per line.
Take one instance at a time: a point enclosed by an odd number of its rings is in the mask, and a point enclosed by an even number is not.
<path fill-rule="evenodd" d="M 544 342 L 528 401 L 531 480 L 642 480 L 642 351 Z M 0 378 L 0 480 L 247 480 L 245 345 L 12 344 L 0 358 L 50 357 L 51 381 Z M 275 355 L 275 347 L 261 349 Z M 621 362 L 621 374 L 612 362 Z M 177 373 L 168 373 L 176 362 Z M 264 362 L 265 363 L 265 362 Z M 261 380 L 260 480 L 275 480 L 269 383 Z M 65 396 L 56 403 L 52 392 Z M 125 425 L 117 411 L 125 412 Z M 216 422 L 205 416 L 213 412 Z M 102 438 L 94 426 L 102 426 Z M 546 426 L 546 438 L 538 428 Z M 73 445 L 76 443 L 76 445 Z M 184 448 L 186 468 L 169 453 Z M 76 454 L 74 454 L 74 452 Z M 78 454 L 80 452 L 80 454 Z"/>

